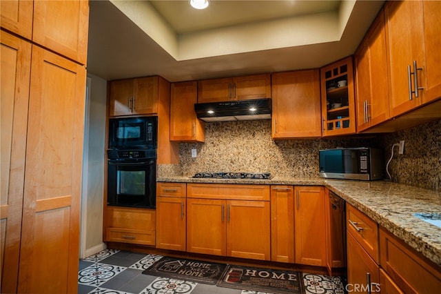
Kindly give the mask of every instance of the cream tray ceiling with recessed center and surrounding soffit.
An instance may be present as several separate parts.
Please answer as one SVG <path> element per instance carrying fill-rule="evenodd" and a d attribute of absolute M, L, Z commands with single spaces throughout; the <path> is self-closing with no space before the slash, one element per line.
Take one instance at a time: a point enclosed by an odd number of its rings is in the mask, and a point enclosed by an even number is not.
<path fill-rule="evenodd" d="M 353 54 L 384 1 L 90 1 L 88 72 L 169 81 L 320 68 Z"/>

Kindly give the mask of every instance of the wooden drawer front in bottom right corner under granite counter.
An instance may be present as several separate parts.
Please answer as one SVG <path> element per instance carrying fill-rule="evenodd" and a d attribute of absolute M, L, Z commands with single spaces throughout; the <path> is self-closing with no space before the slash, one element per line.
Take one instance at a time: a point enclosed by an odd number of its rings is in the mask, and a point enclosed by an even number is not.
<path fill-rule="evenodd" d="M 404 293 L 433 293 L 441 288 L 441 268 L 427 262 L 401 240 L 380 228 L 380 262 Z"/>

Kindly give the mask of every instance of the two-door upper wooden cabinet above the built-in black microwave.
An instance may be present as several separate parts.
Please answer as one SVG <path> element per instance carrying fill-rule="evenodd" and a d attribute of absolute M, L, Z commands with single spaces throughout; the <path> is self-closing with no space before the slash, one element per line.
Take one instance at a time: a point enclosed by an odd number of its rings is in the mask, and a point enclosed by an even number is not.
<path fill-rule="evenodd" d="M 158 113 L 159 79 L 140 77 L 110 82 L 111 117 L 121 115 L 152 115 Z"/>

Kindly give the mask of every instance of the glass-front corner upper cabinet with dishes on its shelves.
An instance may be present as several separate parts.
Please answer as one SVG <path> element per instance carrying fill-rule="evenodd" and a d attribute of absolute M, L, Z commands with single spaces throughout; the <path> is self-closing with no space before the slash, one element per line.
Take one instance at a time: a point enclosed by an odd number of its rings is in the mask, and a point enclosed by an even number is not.
<path fill-rule="evenodd" d="M 356 133 L 352 57 L 320 69 L 322 135 Z"/>

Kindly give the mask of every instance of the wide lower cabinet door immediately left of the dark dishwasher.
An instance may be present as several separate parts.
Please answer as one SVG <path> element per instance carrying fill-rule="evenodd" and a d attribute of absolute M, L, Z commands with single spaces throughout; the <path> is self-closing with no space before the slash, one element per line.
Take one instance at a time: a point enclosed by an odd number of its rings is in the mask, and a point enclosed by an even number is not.
<path fill-rule="evenodd" d="M 295 186 L 296 264 L 326 266 L 325 191 L 322 186 Z M 314 233 L 311 233 L 314 232 Z"/>

